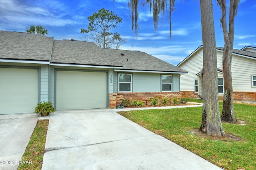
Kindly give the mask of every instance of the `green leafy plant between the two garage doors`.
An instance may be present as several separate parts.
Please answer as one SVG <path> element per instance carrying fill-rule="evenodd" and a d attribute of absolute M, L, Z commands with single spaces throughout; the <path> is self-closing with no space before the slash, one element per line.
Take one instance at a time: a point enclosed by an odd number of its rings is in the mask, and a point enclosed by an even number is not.
<path fill-rule="evenodd" d="M 34 113 L 40 113 L 42 116 L 48 116 L 54 111 L 55 108 L 52 106 L 52 102 L 40 102 L 34 109 Z"/>

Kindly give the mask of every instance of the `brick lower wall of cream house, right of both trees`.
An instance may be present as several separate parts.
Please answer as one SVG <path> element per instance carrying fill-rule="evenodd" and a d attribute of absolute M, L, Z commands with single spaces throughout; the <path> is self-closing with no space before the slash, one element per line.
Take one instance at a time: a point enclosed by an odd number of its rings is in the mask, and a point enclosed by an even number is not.
<path fill-rule="evenodd" d="M 256 92 L 233 92 L 233 100 L 256 102 Z"/>

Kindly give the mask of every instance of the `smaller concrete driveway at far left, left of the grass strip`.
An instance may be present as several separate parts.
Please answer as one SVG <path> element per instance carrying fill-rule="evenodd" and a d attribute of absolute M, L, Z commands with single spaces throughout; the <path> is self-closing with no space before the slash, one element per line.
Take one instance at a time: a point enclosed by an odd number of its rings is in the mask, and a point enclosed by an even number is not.
<path fill-rule="evenodd" d="M 35 113 L 0 115 L 0 170 L 18 168 L 37 120 Z"/>

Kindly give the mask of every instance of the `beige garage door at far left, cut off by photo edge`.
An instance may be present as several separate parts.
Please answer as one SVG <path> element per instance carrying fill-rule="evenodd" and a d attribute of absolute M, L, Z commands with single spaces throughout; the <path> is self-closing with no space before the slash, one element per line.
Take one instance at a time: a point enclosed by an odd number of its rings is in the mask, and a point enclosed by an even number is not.
<path fill-rule="evenodd" d="M 0 114 L 32 113 L 38 103 L 38 69 L 0 68 Z"/>

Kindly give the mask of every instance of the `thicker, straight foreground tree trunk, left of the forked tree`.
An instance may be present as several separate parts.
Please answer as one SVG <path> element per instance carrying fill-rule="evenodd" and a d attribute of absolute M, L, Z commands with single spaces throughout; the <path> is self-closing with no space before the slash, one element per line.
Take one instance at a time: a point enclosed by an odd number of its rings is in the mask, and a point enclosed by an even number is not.
<path fill-rule="evenodd" d="M 203 40 L 203 114 L 200 131 L 211 136 L 225 135 L 218 103 L 218 72 L 212 0 L 201 0 Z"/>

